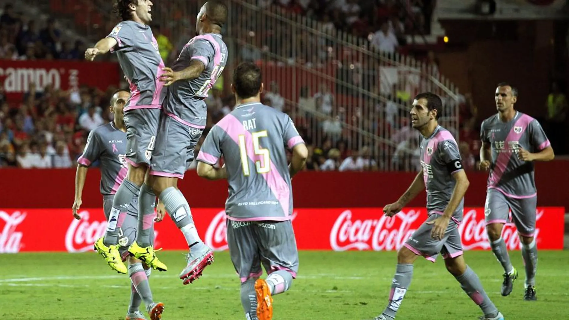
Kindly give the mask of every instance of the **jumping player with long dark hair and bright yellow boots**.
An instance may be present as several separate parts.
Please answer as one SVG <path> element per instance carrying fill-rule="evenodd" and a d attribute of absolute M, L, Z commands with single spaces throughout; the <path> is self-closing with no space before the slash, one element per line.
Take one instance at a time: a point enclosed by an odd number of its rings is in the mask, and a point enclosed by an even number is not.
<path fill-rule="evenodd" d="M 166 90 L 159 80 L 164 63 L 158 44 L 148 24 L 152 20 L 150 0 L 115 0 L 114 11 L 121 17 L 106 38 L 97 42 L 94 48 L 85 51 L 85 59 L 93 60 L 97 55 L 116 52 L 126 80 L 130 84 L 130 98 L 125 105 L 126 155 L 129 163 L 126 178 L 122 181 L 113 200 L 105 236 L 95 242 L 95 248 L 105 258 L 109 266 L 118 272 L 126 273 L 117 246 L 118 230 L 124 221 L 130 202 L 138 196 L 144 182 L 147 168 L 156 140 L 156 130 L 160 118 L 160 108 Z M 149 201 L 149 203 L 141 203 Z M 139 198 L 139 205 L 154 206 L 155 198 Z M 140 211 L 140 210 L 139 210 Z M 138 232 L 149 233 L 151 217 Z M 154 250 L 146 256 L 145 262 L 152 268 L 166 271 L 165 264 L 155 259 Z"/>

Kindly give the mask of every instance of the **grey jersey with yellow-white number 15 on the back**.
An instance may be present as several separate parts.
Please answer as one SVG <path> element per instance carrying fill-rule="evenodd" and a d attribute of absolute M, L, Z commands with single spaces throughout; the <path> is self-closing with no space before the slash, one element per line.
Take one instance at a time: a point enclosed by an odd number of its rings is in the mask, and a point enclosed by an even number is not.
<path fill-rule="evenodd" d="M 216 164 L 223 156 L 229 196 L 228 219 L 287 221 L 292 193 L 286 148 L 304 143 L 288 115 L 261 103 L 246 103 L 220 120 L 205 138 L 197 160 Z"/>

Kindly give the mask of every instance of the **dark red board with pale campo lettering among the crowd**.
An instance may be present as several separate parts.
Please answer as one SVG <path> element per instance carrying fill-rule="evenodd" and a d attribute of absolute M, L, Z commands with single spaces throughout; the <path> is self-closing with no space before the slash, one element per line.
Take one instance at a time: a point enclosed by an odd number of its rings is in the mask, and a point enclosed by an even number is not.
<path fill-rule="evenodd" d="M 0 60 L 0 84 L 9 102 L 19 102 L 34 83 L 38 92 L 48 85 L 55 89 L 78 89 L 81 85 L 106 90 L 120 82 L 117 63 L 38 60 Z"/>

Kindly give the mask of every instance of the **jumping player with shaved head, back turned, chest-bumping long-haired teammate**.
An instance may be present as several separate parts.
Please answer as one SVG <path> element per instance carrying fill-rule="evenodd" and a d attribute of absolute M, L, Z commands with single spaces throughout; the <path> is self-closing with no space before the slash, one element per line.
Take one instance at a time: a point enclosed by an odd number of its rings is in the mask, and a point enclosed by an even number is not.
<path fill-rule="evenodd" d="M 180 273 L 184 284 L 200 277 L 203 269 L 213 262 L 213 252 L 197 234 L 188 201 L 177 185 L 193 160 L 194 148 L 205 128 L 207 106 L 204 99 L 227 62 L 227 47 L 220 34 L 227 14 L 224 3 L 205 3 L 197 15 L 199 36 L 184 46 L 172 69 L 164 69 L 162 80 L 169 86 L 168 94 L 152 153 L 150 176 L 140 194 L 139 225 L 145 225 L 140 221 L 152 219 L 152 201 L 158 196 L 188 243 L 187 266 Z M 139 232 L 129 251 L 152 264 L 150 233 Z"/>

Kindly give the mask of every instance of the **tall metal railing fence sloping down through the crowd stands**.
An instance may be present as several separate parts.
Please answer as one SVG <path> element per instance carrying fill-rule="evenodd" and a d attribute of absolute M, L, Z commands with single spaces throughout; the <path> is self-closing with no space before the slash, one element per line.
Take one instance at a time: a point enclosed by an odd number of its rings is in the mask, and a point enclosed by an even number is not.
<path fill-rule="evenodd" d="M 65 7 L 71 0 L 50 1 Z M 176 48 L 195 35 L 196 15 L 204 2 L 155 3 L 153 24 L 174 44 L 171 59 Z M 414 95 L 425 91 L 443 98 L 440 123 L 459 138 L 458 90 L 435 65 L 377 52 L 371 45 L 373 35 L 357 38 L 329 23 L 263 5 L 269 2 L 228 0 L 224 40 L 230 57 L 225 78 L 241 61 L 261 65 L 265 103 L 290 114 L 309 144 L 337 148 L 340 157 L 365 153 L 383 170 L 415 170 L 418 133 L 410 127 L 409 110 Z M 116 22 L 109 3 L 90 1 L 88 19 L 105 22 L 104 27 L 88 27 L 94 38 L 106 35 Z"/>

